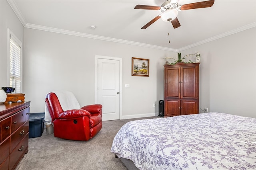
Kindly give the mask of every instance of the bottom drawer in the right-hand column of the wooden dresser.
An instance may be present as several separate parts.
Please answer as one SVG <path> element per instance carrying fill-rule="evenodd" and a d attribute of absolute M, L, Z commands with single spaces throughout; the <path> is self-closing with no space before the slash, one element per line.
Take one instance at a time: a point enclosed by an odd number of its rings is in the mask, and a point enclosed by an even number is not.
<path fill-rule="evenodd" d="M 16 167 L 24 153 L 28 151 L 28 133 L 26 136 L 18 143 L 18 145 L 10 153 L 10 163 L 9 170 L 12 170 Z"/>

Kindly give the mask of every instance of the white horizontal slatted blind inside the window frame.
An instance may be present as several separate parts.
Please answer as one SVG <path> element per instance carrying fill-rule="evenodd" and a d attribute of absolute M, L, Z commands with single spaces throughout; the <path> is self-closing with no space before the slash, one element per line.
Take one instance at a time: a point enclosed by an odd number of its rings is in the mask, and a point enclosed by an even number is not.
<path fill-rule="evenodd" d="M 10 87 L 21 93 L 21 47 L 10 34 Z"/>

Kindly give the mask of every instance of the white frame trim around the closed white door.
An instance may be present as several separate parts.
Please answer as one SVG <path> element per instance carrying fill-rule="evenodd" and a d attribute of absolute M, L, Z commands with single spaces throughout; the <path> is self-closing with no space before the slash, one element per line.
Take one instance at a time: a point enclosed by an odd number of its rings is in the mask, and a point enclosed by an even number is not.
<path fill-rule="evenodd" d="M 98 104 L 98 59 L 119 61 L 119 120 L 122 117 L 122 58 L 95 55 L 95 104 Z"/>

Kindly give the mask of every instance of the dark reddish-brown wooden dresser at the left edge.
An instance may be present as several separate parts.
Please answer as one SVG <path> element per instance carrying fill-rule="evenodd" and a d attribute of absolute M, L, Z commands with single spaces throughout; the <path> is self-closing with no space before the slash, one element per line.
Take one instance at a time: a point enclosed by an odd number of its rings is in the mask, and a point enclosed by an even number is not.
<path fill-rule="evenodd" d="M 14 170 L 28 153 L 30 101 L 0 104 L 0 169 Z"/>

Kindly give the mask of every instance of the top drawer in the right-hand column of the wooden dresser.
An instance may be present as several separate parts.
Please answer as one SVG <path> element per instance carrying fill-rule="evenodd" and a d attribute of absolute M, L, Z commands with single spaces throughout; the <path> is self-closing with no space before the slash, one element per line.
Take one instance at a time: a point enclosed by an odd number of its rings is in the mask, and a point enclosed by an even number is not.
<path fill-rule="evenodd" d="M 23 109 L 12 116 L 11 133 L 16 131 L 26 121 L 26 109 Z"/>

